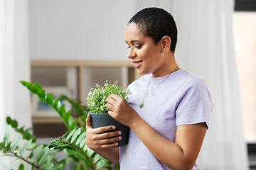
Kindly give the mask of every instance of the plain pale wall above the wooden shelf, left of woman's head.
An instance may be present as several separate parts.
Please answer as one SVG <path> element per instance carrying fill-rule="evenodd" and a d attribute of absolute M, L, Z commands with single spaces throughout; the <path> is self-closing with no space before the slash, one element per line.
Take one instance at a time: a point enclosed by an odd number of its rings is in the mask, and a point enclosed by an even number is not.
<path fill-rule="evenodd" d="M 127 60 L 135 0 L 30 0 L 31 60 Z"/>

